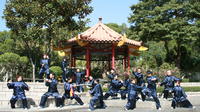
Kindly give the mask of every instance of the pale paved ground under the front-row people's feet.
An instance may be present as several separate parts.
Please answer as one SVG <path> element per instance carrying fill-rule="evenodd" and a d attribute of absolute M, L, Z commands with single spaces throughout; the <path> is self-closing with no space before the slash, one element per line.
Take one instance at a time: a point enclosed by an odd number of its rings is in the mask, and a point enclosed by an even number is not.
<path fill-rule="evenodd" d="M 200 93 L 187 93 L 188 99 L 191 101 L 191 103 L 196 107 L 195 109 L 187 109 L 187 108 L 177 108 L 177 109 L 171 109 L 171 99 L 164 100 L 163 98 L 160 98 L 162 110 L 161 112 L 199 112 L 200 111 Z M 38 109 L 37 107 L 30 108 L 28 110 L 23 109 L 10 109 L 10 108 L 0 108 L 0 112 L 21 112 L 21 111 L 28 111 L 28 112 L 88 112 L 88 97 L 82 98 L 86 104 L 83 106 L 80 106 L 78 104 L 71 104 L 66 105 L 63 108 L 45 108 L 45 109 Z M 123 112 L 124 105 L 126 104 L 126 100 L 121 99 L 108 99 L 105 101 L 107 108 L 106 109 L 97 109 L 94 112 Z M 148 101 L 138 101 L 137 102 L 137 108 L 134 110 L 134 112 L 154 112 L 157 111 L 155 109 L 155 103 L 149 99 Z M 130 110 L 133 111 L 133 110 Z"/>

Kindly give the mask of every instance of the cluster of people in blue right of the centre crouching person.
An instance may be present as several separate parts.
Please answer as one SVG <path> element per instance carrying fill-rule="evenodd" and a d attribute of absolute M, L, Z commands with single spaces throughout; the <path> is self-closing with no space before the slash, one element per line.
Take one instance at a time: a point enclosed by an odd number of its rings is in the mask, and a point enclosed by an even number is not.
<path fill-rule="evenodd" d="M 111 73 L 108 75 L 110 79 L 109 90 L 104 95 L 104 100 L 109 96 L 116 96 L 117 94 L 121 94 L 121 99 L 126 99 L 126 94 L 128 94 L 125 110 L 130 110 L 136 108 L 136 102 L 140 99 L 138 94 L 141 94 L 142 101 L 145 101 L 146 97 L 152 97 L 156 103 L 156 109 L 161 110 L 161 104 L 156 92 L 156 87 L 158 85 L 164 86 L 163 93 L 165 99 L 168 98 L 170 93 L 174 94 L 171 104 L 172 108 L 175 109 L 177 106 L 193 108 L 183 88 L 180 86 L 181 79 L 173 76 L 171 70 L 166 71 L 166 76 L 161 83 L 158 82 L 158 77 L 153 75 L 151 70 L 146 72 L 145 81 L 145 75 L 142 74 L 141 68 L 133 70 L 132 76 L 134 76 L 134 78 L 129 78 L 129 75 L 126 73 L 124 76 L 125 80 L 121 81 L 118 79 L 115 71 L 111 70 Z M 121 89 L 122 87 L 124 87 L 124 89 Z"/>

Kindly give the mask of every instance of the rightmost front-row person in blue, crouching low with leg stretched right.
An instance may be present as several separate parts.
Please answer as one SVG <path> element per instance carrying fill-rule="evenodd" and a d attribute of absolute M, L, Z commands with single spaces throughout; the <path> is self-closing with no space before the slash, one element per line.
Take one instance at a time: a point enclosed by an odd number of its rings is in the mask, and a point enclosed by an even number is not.
<path fill-rule="evenodd" d="M 180 86 L 180 81 L 180 79 L 176 81 L 176 86 L 172 90 L 174 97 L 171 106 L 174 109 L 177 107 L 177 105 L 185 108 L 193 108 L 193 105 L 187 99 L 187 95 L 185 94 L 183 88 Z"/>

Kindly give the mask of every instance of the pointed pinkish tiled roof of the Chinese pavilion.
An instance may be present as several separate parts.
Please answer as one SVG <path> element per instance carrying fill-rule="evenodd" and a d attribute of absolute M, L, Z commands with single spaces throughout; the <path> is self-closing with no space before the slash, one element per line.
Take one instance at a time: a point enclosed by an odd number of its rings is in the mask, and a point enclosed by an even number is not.
<path fill-rule="evenodd" d="M 102 18 L 99 18 L 99 22 L 96 25 L 79 34 L 78 38 L 74 37 L 69 39 L 67 43 L 73 43 L 77 39 L 89 43 L 117 43 L 122 41 L 124 38 L 121 34 L 104 25 L 102 23 Z M 142 42 L 128 38 L 124 39 L 124 44 L 141 46 L 141 43 Z"/>

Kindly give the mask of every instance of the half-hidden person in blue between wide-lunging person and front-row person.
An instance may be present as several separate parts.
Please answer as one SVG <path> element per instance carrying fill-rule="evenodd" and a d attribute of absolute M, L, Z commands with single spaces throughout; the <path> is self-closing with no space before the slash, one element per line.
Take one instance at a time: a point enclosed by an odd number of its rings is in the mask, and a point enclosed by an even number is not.
<path fill-rule="evenodd" d="M 126 99 L 126 94 L 128 94 L 128 86 L 131 83 L 131 80 L 129 79 L 129 75 L 127 73 L 124 73 L 125 80 L 123 81 L 124 90 L 121 91 L 121 99 Z"/>

